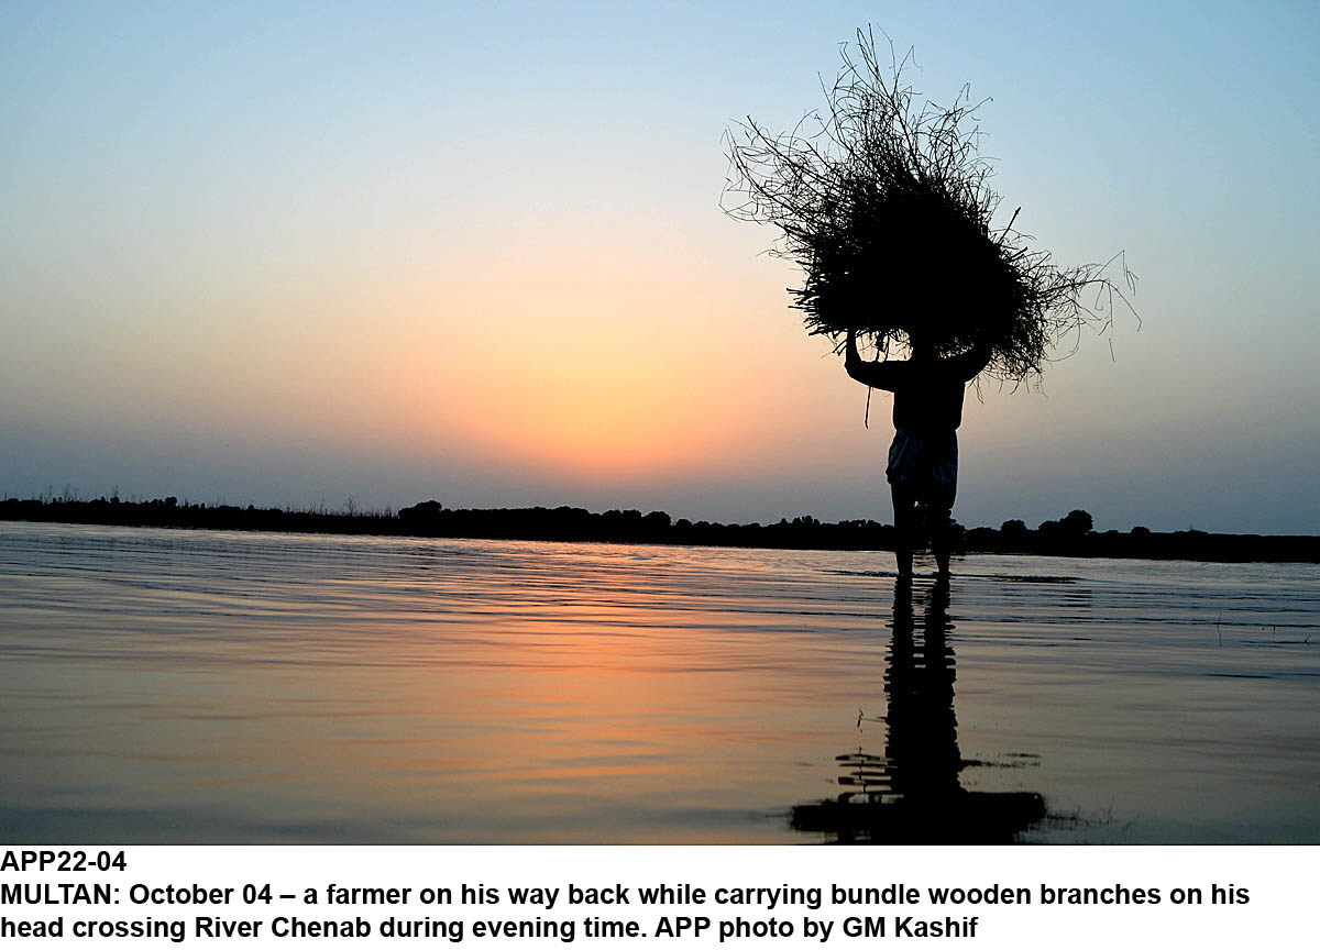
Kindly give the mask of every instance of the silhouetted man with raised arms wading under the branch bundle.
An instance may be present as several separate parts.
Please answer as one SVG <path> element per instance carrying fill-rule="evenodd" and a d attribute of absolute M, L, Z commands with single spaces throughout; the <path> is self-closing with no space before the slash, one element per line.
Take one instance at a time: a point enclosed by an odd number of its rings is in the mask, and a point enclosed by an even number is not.
<path fill-rule="evenodd" d="M 958 490 L 958 435 L 962 393 L 986 368 L 990 347 L 977 343 L 958 356 L 935 356 L 909 334 L 912 358 L 865 363 L 857 335 L 847 332 L 843 367 L 858 383 L 894 393 L 894 442 L 884 475 L 894 497 L 899 577 L 912 577 L 912 548 L 920 521 L 931 533 L 940 574 L 949 573 L 949 516 Z"/>

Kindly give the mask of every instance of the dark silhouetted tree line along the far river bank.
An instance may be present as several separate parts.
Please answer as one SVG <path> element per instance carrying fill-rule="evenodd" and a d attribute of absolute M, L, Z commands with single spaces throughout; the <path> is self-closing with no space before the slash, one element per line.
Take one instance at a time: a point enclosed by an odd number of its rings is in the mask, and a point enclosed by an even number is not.
<path fill-rule="evenodd" d="M 300 511 L 199 504 L 173 496 L 150 501 L 121 500 L 117 495 L 83 499 L 66 492 L 61 497 L 0 500 L 0 520 L 508 541 L 894 550 L 894 526 L 871 520 L 829 522 L 803 515 L 772 524 L 721 524 L 673 520 L 661 511 L 643 515 L 635 509 L 595 513 L 569 507 L 446 508 L 440 501 L 422 501 L 399 512 L 364 512 L 352 503 L 339 511 L 323 507 Z M 1152 532 L 1142 526 L 1130 532 L 1097 532 L 1092 516 L 1081 509 L 1043 521 L 1035 529 L 1019 520 L 1005 521 L 999 528 L 965 529 L 960 525 L 956 537 L 957 549 L 964 553 L 1320 562 L 1320 537 L 1315 536 Z"/>

